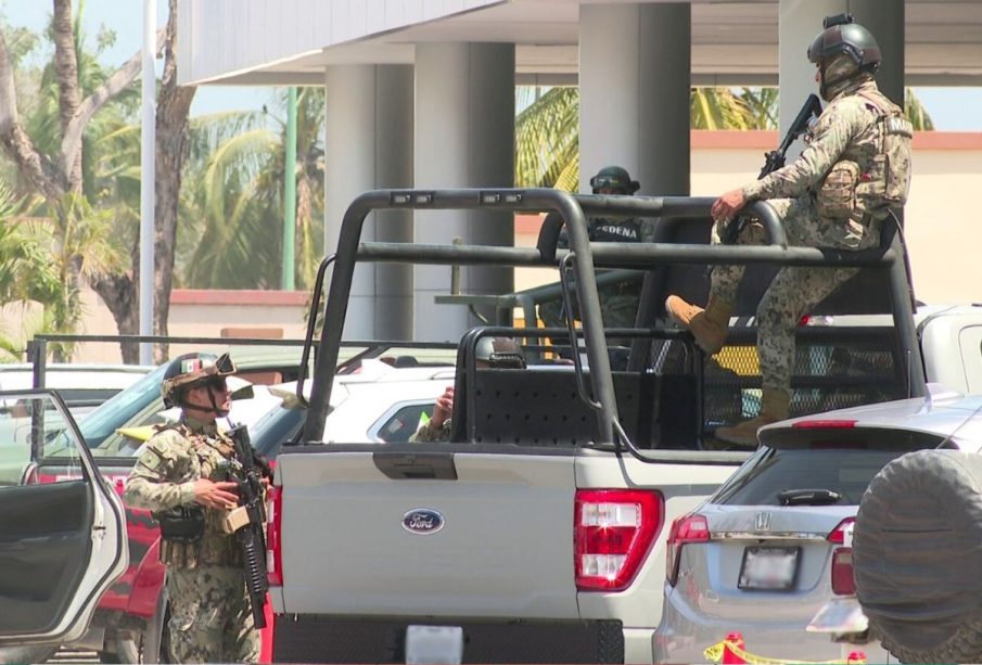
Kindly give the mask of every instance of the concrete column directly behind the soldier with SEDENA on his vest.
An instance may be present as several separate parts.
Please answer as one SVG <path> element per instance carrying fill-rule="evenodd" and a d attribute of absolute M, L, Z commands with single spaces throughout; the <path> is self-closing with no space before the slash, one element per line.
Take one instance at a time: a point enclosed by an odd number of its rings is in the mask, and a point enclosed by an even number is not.
<path fill-rule="evenodd" d="M 688 2 L 579 8 L 579 182 L 624 166 L 642 194 L 689 193 Z"/>

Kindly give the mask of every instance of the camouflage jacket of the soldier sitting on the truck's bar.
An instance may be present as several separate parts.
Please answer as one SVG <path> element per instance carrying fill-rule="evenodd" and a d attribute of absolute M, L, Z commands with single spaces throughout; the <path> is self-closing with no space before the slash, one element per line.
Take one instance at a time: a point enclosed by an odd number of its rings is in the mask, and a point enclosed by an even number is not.
<path fill-rule="evenodd" d="M 845 88 L 825 107 L 801 155 L 743 188 L 748 202 L 761 199 L 798 199 L 812 195 L 832 166 L 842 161 L 855 162 L 866 174 L 882 150 L 880 114 L 869 97 L 893 105 L 872 80 L 860 80 Z M 909 164 L 904 166 L 909 168 Z M 887 210 L 868 210 L 884 217 Z"/>

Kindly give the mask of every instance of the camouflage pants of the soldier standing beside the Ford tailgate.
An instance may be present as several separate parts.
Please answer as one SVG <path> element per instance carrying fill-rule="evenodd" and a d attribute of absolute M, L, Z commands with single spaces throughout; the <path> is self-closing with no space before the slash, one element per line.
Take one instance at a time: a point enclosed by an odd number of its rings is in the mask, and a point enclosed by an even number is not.
<path fill-rule="evenodd" d="M 245 575 L 230 566 L 167 571 L 170 648 L 178 663 L 256 663 L 259 631 L 253 625 Z"/>

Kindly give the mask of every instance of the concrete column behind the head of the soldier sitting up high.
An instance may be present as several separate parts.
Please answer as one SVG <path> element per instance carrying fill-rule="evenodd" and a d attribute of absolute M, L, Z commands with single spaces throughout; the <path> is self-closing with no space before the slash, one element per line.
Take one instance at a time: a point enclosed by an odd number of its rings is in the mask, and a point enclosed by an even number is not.
<path fill-rule="evenodd" d="M 887 97 L 903 103 L 904 95 L 904 2 L 903 0 L 780 0 L 778 7 L 778 81 L 780 85 L 780 133 L 798 115 L 805 98 L 818 92 L 815 65 L 808 62 L 808 46 L 821 31 L 821 21 L 850 12 L 880 44 L 883 64 L 877 82 Z M 796 156 L 795 144 L 788 156 Z"/>

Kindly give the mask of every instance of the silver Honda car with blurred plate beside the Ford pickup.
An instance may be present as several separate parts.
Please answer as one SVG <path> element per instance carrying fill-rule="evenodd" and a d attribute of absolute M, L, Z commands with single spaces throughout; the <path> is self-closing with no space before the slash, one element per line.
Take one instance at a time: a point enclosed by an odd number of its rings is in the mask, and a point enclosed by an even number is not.
<path fill-rule="evenodd" d="M 868 636 L 853 635 L 862 645 L 833 642 L 829 616 L 818 622 L 825 634 L 806 627 L 827 604 L 827 614 L 838 608 L 841 625 L 858 625 L 849 602 L 830 601 L 854 598 L 847 541 L 860 497 L 892 460 L 951 445 L 952 423 L 965 420 L 968 411 L 958 407 L 964 398 L 929 387 L 924 398 L 829 411 L 761 431 L 761 447 L 750 459 L 672 525 L 655 662 L 704 660 L 703 650 L 732 631 L 762 657 L 824 661 L 862 650 L 870 663 L 888 662 Z"/>

